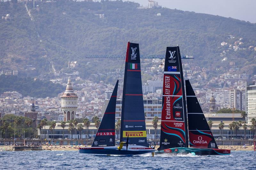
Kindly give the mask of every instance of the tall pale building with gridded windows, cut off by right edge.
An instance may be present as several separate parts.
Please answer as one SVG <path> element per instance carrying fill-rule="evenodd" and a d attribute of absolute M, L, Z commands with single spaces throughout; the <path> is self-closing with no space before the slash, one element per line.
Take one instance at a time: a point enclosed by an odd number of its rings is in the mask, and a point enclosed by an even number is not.
<path fill-rule="evenodd" d="M 251 123 L 252 118 L 256 119 L 256 85 L 255 82 L 246 82 L 246 113 L 247 122 Z"/>

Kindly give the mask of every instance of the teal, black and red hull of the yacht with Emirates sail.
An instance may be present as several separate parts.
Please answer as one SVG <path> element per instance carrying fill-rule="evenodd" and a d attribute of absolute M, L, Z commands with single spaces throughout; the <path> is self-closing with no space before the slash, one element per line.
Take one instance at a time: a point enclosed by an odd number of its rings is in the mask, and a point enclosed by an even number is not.
<path fill-rule="evenodd" d="M 162 151 L 156 151 L 155 154 L 162 153 L 172 153 L 172 154 L 188 154 L 195 153 L 196 155 L 230 155 L 230 150 L 228 149 L 211 149 L 211 148 L 170 148 Z"/>

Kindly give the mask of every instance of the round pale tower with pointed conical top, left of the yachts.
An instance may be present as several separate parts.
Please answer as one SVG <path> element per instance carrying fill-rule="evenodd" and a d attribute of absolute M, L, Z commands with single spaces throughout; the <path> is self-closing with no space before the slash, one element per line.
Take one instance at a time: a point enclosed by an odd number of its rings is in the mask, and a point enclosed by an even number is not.
<path fill-rule="evenodd" d="M 76 96 L 76 93 L 72 88 L 70 78 L 68 77 L 66 91 L 61 96 L 61 110 L 63 112 L 64 122 L 75 119 L 77 99 L 78 97 Z"/>

